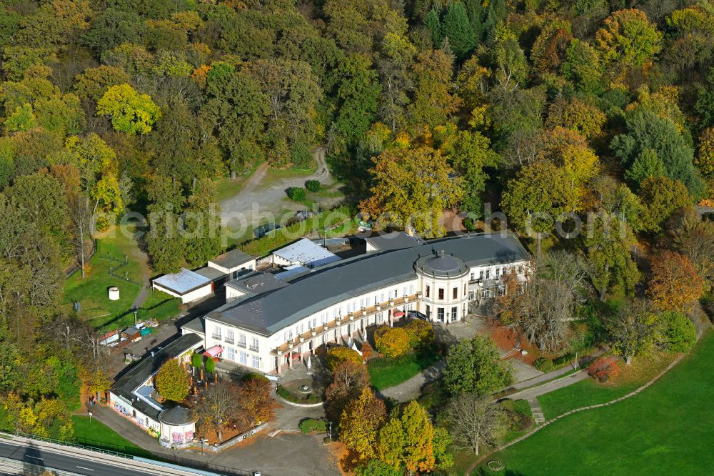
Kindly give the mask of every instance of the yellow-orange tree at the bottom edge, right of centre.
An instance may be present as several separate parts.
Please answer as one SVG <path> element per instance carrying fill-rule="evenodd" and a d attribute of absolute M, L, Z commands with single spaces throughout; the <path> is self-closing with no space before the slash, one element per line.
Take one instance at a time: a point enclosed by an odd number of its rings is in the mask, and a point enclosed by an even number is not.
<path fill-rule="evenodd" d="M 411 401 L 401 410 L 394 410 L 379 432 L 379 459 L 391 467 L 406 468 L 409 474 L 433 470 L 434 428 L 426 410 Z"/>

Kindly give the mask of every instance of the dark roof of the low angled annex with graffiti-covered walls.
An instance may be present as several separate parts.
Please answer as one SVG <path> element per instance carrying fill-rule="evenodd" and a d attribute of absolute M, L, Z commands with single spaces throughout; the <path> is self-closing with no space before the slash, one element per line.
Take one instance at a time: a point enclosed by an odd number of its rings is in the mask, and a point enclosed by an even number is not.
<path fill-rule="evenodd" d="M 144 415 L 156 420 L 159 417 L 159 410 L 152 407 L 148 403 L 136 398 L 131 392 L 134 392 L 141 384 L 146 382 L 152 375 L 159 372 L 161 365 L 164 365 L 169 359 L 175 359 L 179 355 L 186 352 L 198 342 L 203 342 L 203 337 L 198 334 L 186 334 L 178 337 L 170 344 L 154 352 L 154 357 L 144 357 L 138 364 L 131 367 L 119 380 L 114 382 L 111 390 L 116 395 L 124 397 L 124 400 L 131 402 L 134 399 L 134 407 L 136 410 L 144 413 Z"/>

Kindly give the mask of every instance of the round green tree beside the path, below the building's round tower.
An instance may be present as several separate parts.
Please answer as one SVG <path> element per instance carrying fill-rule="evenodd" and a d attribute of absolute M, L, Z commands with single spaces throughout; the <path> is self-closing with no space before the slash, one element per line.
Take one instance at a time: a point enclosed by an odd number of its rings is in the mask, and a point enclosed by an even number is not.
<path fill-rule="evenodd" d="M 444 385 L 452 394 L 488 395 L 512 382 L 511 369 L 503 363 L 501 353 L 489 337 L 476 335 L 449 349 Z"/>

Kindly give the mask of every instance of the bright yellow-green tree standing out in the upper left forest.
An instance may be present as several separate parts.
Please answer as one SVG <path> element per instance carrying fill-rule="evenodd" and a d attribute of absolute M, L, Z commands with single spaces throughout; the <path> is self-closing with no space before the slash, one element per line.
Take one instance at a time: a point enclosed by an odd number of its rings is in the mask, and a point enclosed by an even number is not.
<path fill-rule="evenodd" d="M 147 134 L 157 119 L 161 109 L 151 100 L 149 94 L 139 94 L 129 84 L 119 84 L 107 89 L 96 104 L 97 114 L 111 116 L 114 129 L 133 136 Z"/>

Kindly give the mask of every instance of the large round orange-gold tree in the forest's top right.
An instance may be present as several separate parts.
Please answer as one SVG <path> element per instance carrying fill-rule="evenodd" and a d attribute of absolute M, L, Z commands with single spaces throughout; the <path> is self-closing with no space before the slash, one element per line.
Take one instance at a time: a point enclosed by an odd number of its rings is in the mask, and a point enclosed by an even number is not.
<path fill-rule="evenodd" d="M 615 11 L 595 34 L 600 58 L 614 74 L 642 66 L 660 49 L 662 34 L 638 9 Z"/>

